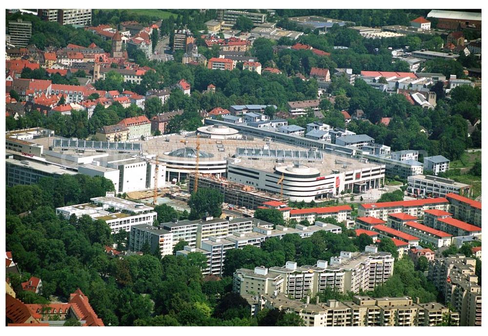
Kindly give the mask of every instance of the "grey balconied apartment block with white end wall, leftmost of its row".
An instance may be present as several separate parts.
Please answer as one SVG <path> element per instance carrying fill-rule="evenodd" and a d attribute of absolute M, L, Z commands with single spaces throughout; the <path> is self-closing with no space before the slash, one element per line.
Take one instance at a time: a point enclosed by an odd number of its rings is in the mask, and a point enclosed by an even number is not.
<path fill-rule="evenodd" d="M 141 251 L 148 243 L 151 251 L 159 251 L 161 257 L 173 254 L 173 234 L 163 227 L 152 224 L 134 225 L 130 228 L 129 250 Z"/>

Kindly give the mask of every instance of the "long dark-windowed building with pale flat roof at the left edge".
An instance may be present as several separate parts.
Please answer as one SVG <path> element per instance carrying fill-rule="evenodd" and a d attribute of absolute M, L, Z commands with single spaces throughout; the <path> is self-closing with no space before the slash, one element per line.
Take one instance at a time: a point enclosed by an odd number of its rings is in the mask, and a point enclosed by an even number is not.
<path fill-rule="evenodd" d="M 31 160 L 20 161 L 14 158 L 5 160 L 5 179 L 6 185 L 9 187 L 17 184 L 36 184 L 41 178 L 57 178 L 64 174 L 76 175 L 77 173 L 54 164 Z"/>

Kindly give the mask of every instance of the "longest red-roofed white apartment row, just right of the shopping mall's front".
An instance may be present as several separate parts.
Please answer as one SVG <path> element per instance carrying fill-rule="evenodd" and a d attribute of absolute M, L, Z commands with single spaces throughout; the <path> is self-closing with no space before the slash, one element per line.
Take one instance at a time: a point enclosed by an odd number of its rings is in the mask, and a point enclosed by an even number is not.
<path fill-rule="evenodd" d="M 388 214 L 403 212 L 410 216 L 420 218 L 424 210 L 447 211 L 449 202 L 446 198 L 426 198 L 396 202 L 365 203 L 358 206 L 359 217 L 376 217 L 387 220 Z"/>

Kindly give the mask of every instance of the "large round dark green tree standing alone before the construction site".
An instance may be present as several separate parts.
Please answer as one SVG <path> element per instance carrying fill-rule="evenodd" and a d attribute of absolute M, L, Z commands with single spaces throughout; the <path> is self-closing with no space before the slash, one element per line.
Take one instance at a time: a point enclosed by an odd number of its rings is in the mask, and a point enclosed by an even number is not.
<path fill-rule="evenodd" d="M 222 202 L 224 196 L 215 189 L 198 188 L 196 193 L 190 196 L 188 205 L 190 206 L 189 219 L 202 218 L 205 213 L 218 218 L 222 214 Z"/>

